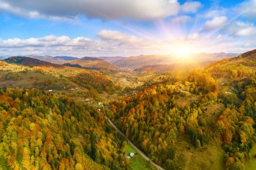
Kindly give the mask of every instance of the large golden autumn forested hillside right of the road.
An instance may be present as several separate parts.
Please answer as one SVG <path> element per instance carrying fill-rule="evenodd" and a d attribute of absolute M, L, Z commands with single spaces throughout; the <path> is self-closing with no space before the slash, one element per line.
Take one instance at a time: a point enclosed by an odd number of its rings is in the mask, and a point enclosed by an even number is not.
<path fill-rule="evenodd" d="M 255 58 L 164 73 L 113 101 L 107 114 L 166 169 L 245 169 L 255 142 Z"/>

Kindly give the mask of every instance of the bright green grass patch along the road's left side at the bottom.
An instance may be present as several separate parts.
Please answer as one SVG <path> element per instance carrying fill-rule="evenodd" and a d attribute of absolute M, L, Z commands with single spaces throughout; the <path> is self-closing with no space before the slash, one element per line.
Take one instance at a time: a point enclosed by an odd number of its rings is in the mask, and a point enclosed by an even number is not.
<path fill-rule="evenodd" d="M 134 148 L 130 145 L 127 144 L 127 146 L 125 146 L 125 148 L 123 148 L 123 152 L 126 152 L 127 155 L 129 155 L 130 153 L 135 153 L 135 156 L 131 157 L 131 159 L 129 159 L 129 169 L 132 170 L 156 170 L 156 168 L 151 165 L 151 163 L 149 163 L 148 161 L 146 161 L 145 159 L 143 159 L 143 157 L 141 157 L 141 155 L 139 155 Z"/>

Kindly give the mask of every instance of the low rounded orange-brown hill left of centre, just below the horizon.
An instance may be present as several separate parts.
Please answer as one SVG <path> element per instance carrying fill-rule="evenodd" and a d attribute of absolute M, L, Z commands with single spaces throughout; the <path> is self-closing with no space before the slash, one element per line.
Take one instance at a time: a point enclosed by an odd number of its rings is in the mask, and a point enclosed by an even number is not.
<path fill-rule="evenodd" d="M 88 57 L 88 56 L 83 58 L 78 58 L 77 60 L 66 62 L 64 65 L 69 67 L 77 67 L 77 68 L 93 69 L 93 70 L 100 70 L 100 69 L 117 70 L 118 69 L 118 67 L 110 64 L 106 60 L 102 60 L 100 58 L 95 58 L 95 57 Z"/>

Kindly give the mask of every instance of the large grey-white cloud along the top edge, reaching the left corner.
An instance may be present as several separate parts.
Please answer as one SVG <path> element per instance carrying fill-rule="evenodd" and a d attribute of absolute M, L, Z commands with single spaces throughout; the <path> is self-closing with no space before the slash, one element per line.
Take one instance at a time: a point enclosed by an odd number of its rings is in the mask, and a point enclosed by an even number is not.
<path fill-rule="evenodd" d="M 103 19 L 154 19 L 176 15 L 177 0 L 1 0 L 0 10 L 24 17 L 70 18 L 77 15 Z"/>

